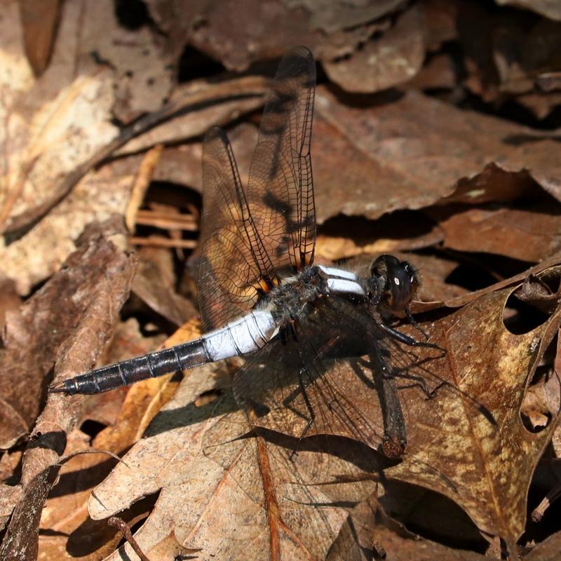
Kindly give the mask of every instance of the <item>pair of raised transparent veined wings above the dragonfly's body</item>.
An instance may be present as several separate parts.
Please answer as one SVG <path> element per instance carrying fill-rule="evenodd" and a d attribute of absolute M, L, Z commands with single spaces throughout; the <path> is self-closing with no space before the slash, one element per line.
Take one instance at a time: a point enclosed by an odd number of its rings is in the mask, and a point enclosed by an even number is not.
<path fill-rule="evenodd" d="M 304 47 L 283 58 L 271 86 L 247 191 L 226 135 L 214 128 L 203 149 L 203 328 L 247 312 L 279 270 L 313 261 L 316 217 L 310 141 L 316 67 Z"/>

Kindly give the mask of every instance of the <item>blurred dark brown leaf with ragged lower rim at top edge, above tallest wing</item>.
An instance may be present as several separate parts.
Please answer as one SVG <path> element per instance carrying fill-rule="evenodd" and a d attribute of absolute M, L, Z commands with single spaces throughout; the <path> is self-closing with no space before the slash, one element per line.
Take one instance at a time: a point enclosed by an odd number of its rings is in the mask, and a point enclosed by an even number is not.
<path fill-rule="evenodd" d="M 227 69 L 243 71 L 252 62 L 283 55 L 288 46 L 307 45 L 317 51 L 318 58 L 323 50 L 332 54 L 334 48 L 354 49 L 363 35 L 349 29 L 366 27 L 403 3 L 229 0 L 217 4 L 182 0 L 171 9 L 165 2 L 148 0 L 146 4 L 158 29 L 165 32 L 170 50 L 181 53 L 187 39 Z"/>

